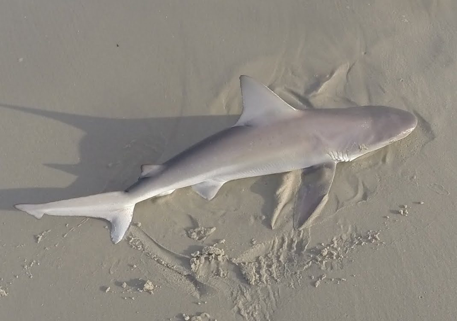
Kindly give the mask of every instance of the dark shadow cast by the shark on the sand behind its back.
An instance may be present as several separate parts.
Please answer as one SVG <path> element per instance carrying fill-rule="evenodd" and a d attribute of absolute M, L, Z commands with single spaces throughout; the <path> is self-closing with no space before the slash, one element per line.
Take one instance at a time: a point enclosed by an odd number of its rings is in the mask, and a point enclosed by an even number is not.
<path fill-rule="evenodd" d="M 115 119 L 0 105 L 63 122 L 85 132 L 79 143 L 79 163 L 45 166 L 73 174 L 69 186 L 0 190 L 0 209 L 17 203 L 44 203 L 101 192 L 123 190 L 138 179 L 140 166 L 165 161 L 203 138 L 232 126 L 239 116 L 182 116 Z M 165 157 L 165 159 L 163 159 Z"/>

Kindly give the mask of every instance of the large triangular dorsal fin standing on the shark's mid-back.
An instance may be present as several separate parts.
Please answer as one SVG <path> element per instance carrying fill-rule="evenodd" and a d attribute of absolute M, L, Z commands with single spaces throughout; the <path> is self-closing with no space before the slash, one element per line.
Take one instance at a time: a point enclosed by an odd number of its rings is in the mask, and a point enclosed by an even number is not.
<path fill-rule="evenodd" d="M 268 124 L 297 111 L 268 87 L 251 77 L 241 75 L 239 82 L 243 112 L 234 126 Z"/>

